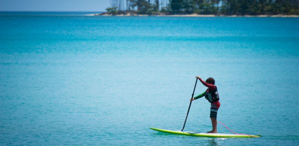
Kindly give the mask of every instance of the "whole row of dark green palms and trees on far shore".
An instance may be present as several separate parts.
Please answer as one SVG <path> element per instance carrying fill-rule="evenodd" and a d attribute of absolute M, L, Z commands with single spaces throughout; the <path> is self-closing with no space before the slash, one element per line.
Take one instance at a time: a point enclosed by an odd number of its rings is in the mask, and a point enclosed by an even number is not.
<path fill-rule="evenodd" d="M 128 9 L 122 12 L 153 14 L 198 13 L 226 15 L 299 14 L 299 0 L 127 0 Z M 161 6 L 161 2 L 164 2 Z M 108 12 L 119 12 L 117 7 Z"/>

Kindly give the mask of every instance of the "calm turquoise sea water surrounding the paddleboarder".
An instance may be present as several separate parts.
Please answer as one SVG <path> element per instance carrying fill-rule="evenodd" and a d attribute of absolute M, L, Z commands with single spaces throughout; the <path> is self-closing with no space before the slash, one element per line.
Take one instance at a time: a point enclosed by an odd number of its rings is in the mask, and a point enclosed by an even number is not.
<path fill-rule="evenodd" d="M 299 18 L 2 14 L 0 145 L 295 146 L 298 72 Z M 220 122 L 263 138 L 150 130 L 182 128 L 196 75 L 215 78 Z M 210 131 L 209 107 L 184 130 Z"/>

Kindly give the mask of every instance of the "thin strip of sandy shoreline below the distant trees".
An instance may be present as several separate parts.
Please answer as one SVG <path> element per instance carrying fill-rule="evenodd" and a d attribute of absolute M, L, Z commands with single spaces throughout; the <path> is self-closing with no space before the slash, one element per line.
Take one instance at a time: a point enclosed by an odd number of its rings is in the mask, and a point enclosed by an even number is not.
<path fill-rule="evenodd" d="M 127 13 L 127 14 L 108 14 L 108 13 L 91 13 L 85 14 L 85 16 L 165 16 L 165 17 L 299 17 L 299 15 L 285 15 L 285 14 L 274 14 L 274 15 L 215 15 L 215 14 L 136 14 L 136 13 Z"/>

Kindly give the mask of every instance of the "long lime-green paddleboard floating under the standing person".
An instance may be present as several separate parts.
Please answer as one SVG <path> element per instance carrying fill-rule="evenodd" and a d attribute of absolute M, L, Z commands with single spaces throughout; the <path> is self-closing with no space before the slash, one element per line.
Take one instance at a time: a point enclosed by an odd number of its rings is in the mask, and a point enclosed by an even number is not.
<path fill-rule="evenodd" d="M 158 132 L 164 132 L 169 134 L 176 134 L 176 135 L 185 135 L 185 136 L 193 136 L 193 137 L 209 137 L 209 138 L 258 138 L 262 136 L 255 136 L 255 135 L 246 135 L 246 134 L 210 134 L 210 133 L 194 133 L 194 132 L 184 132 L 184 131 L 172 131 L 172 130 L 164 130 L 164 129 L 157 129 L 157 128 L 150 128 L 152 130 Z"/>

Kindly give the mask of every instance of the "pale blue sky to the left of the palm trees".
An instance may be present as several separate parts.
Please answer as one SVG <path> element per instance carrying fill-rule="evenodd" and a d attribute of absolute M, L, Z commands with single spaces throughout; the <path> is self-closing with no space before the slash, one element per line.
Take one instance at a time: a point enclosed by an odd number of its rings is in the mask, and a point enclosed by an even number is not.
<path fill-rule="evenodd" d="M 106 11 L 110 0 L 0 0 L 0 11 Z"/>

